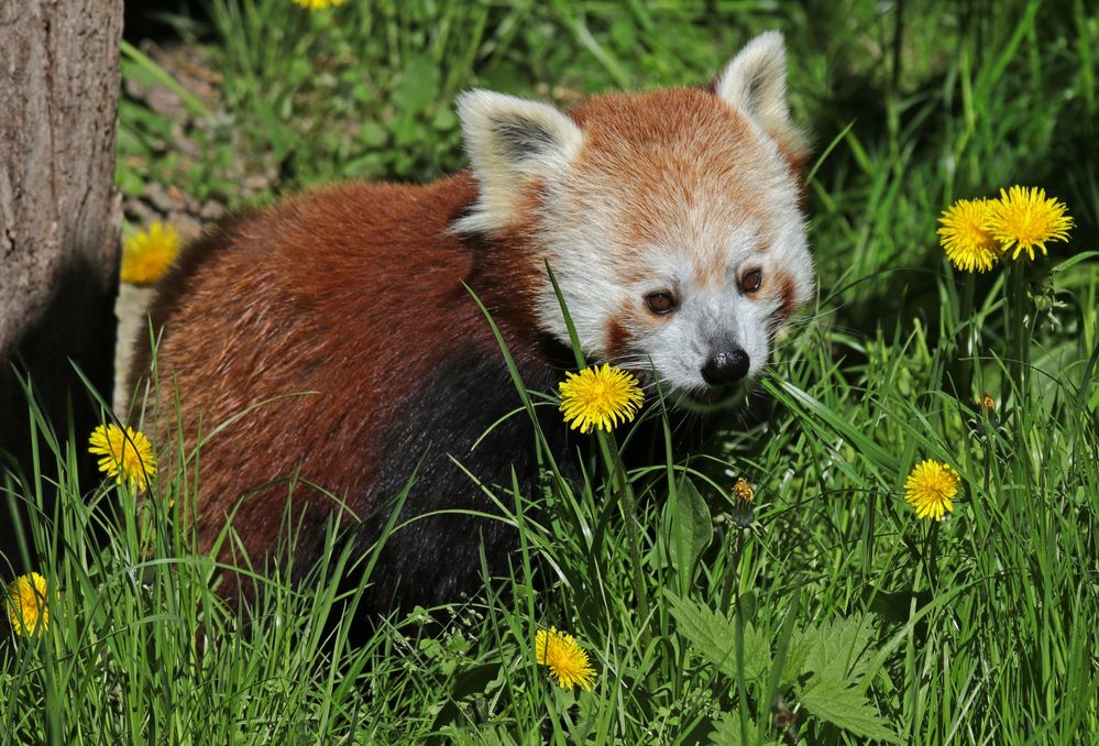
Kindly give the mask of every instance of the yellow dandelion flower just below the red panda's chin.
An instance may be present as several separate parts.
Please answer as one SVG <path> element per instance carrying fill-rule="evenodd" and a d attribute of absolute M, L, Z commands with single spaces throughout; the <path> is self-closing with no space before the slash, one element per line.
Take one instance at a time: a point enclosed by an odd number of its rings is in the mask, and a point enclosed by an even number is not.
<path fill-rule="evenodd" d="M 560 388 L 564 421 L 581 432 L 591 432 L 593 427 L 609 432 L 619 423 L 630 421 L 645 398 L 634 375 L 606 363 L 567 373 Z"/>

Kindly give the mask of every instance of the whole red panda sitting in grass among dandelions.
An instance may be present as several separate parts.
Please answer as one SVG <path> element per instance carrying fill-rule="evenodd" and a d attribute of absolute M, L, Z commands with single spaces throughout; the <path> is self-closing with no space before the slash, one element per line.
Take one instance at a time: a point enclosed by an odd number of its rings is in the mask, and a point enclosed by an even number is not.
<path fill-rule="evenodd" d="M 363 518 L 351 540 L 366 551 L 417 464 L 403 518 L 496 512 L 451 457 L 485 485 L 506 491 L 514 469 L 532 491 L 530 421 L 491 427 L 519 399 L 466 286 L 526 385 L 550 392 L 570 353 L 548 262 L 589 359 L 658 380 L 673 401 L 758 374 L 809 298 L 806 147 L 780 34 L 757 36 L 707 88 L 598 95 L 568 113 L 473 90 L 458 112 L 470 172 L 330 186 L 235 217 L 162 284 L 153 429 L 162 445 L 182 432 L 184 452 L 202 439 L 204 549 L 232 516 L 253 563 L 271 559 L 292 478 L 298 574 L 339 501 Z M 560 418 L 542 427 L 568 450 Z M 482 548 L 499 573 L 516 546 L 499 520 L 414 520 L 388 539 L 367 606 L 457 601 L 480 586 Z"/>

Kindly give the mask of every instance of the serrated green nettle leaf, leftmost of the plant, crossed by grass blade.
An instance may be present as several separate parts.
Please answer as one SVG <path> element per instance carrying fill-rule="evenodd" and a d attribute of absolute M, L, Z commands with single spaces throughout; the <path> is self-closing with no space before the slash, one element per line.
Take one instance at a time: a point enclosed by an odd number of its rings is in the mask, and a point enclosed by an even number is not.
<path fill-rule="evenodd" d="M 725 676 L 736 680 L 736 619 L 729 619 L 715 611 L 689 599 L 680 599 L 670 591 L 666 594 L 671 602 L 671 614 L 675 628 L 710 662 Z M 751 623 L 744 625 L 744 676 L 751 680 L 762 676 L 771 662 L 771 646 L 757 632 Z"/>

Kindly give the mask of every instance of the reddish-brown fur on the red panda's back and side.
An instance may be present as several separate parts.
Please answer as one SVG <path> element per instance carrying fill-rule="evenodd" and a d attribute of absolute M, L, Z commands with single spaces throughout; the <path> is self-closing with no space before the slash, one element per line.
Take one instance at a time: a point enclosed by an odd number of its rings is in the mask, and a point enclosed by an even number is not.
<path fill-rule="evenodd" d="M 471 349 L 498 356 L 459 284 L 481 277 L 479 260 L 448 232 L 474 197 L 468 174 L 422 187 L 321 189 L 231 221 L 165 281 L 153 310 L 156 328 L 166 325 L 155 421 L 163 474 L 173 473 L 174 391 L 183 395 L 178 425 L 188 451 L 200 432 L 260 402 L 310 392 L 259 406 L 202 445 L 204 549 L 242 486 L 297 475 L 348 498 L 359 515 L 371 509 L 355 500 L 377 478 L 375 453 L 388 447 L 378 434 L 402 416 L 399 403 L 440 360 Z M 380 234 L 388 245 L 376 242 Z M 485 261 L 499 271 L 475 283 L 486 303 L 528 307 L 519 296 L 532 272 L 514 256 Z M 517 328 L 505 326 L 513 342 Z M 530 354 L 529 343 L 514 347 L 520 359 Z M 234 525 L 245 527 L 253 560 L 278 544 L 286 494 L 283 484 L 241 506 Z M 331 508 L 328 498 L 309 498 L 299 555 L 317 548 Z"/>

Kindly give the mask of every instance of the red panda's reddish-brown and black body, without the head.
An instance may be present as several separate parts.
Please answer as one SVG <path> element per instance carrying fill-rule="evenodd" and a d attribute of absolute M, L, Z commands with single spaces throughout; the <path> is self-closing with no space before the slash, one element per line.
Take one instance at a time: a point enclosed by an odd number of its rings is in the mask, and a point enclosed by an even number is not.
<path fill-rule="evenodd" d="M 528 385 L 550 388 L 561 363 L 551 360 L 560 347 L 525 318 L 527 281 L 501 275 L 491 249 L 448 232 L 475 195 L 469 175 L 321 189 L 228 222 L 165 281 L 153 311 L 165 329 L 158 414 L 179 391 L 188 447 L 242 415 L 199 449 L 204 549 L 237 509 L 233 526 L 249 557 L 267 557 L 285 541 L 294 478 L 295 504 L 309 505 L 297 568 L 317 559 L 338 507 L 310 483 L 363 519 L 365 551 L 421 457 L 409 517 L 493 511 L 449 456 L 468 460 L 519 398 L 462 283 L 493 309 Z M 161 427 L 162 441 L 172 441 L 174 427 Z M 473 457 L 479 476 L 506 484 L 513 465 L 524 482 L 535 476 L 530 431 L 525 416 L 493 430 L 479 446 L 487 457 Z M 272 482 L 237 507 L 242 494 Z M 391 607 L 398 579 L 402 605 L 455 600 L 475 585 L 481 541 L 493 557 L 507 534 L 496 522 L 455 514 L 403 527 L 366 605 Z"/>

